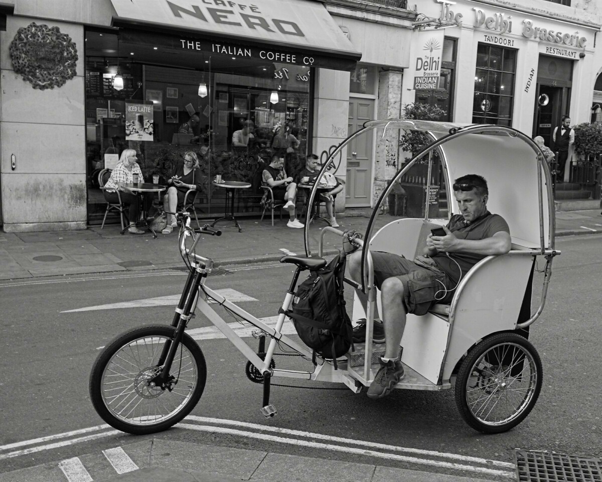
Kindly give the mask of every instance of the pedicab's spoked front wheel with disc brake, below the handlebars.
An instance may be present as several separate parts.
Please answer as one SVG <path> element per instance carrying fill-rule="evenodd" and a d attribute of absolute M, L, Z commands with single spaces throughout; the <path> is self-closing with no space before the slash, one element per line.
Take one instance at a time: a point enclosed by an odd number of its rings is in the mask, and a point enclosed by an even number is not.
<path fill-rule="evenodd" d="M 175 328 L 154 325 L 121 334 L 98 355 L 90 374 L 90 398 L 98 415 L 123 432 L 166 430 L 190 413 L 205 388 L 207 367 L 199 345 L 186 333 L 176 350 L 169 380 L 153 382 Z"/>

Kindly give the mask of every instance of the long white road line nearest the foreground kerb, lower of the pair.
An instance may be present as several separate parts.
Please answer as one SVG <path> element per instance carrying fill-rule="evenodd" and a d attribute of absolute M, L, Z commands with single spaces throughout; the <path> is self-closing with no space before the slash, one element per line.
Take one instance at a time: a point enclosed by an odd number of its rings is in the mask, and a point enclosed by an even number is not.
<path fill-rule="evenodd" d="M 368 455 L 370 457 L 379 457 L 387 460 L 400 460 L 402 462 L 417 463 L 420 465 L 429 465 L 445 469 L 453 469 L 459 471 L 470 471 L 478 474 L 496 475 L 500 477 L 514 478 L 514 472 L 504 470 L 488 469 L 485 467 L 476 467 L 455 462 L 445 462 L 443 460 L 419 459 L 418 457 L 409 457 L 408 455 L 391 454 L 389 452 L 377 452 L 366 448 L 345 447 L 341 445 L 333 445 L 332 443 L 311 442 L 309 440 L 291 439 L 289 437 L 278 437 L 275 435 L 246 432 L 236 430 L 235 428 L 216 427 L 215 425 L 193 425 L 193 424 L 178 424 L 176 427 L 187 428 L 189 430 L 198 430 L 211 433 L 225 433 L 238 435 L 241 437 L 249 437 L 252 439 L 261 439 L 269 442 L 279 442 L 287 445 L 299 445 L 317 449 L 334 450 L 337 452 L 346 452 L 348 454 Z M 513 466 L 514 467 L 514 466 Z"/>

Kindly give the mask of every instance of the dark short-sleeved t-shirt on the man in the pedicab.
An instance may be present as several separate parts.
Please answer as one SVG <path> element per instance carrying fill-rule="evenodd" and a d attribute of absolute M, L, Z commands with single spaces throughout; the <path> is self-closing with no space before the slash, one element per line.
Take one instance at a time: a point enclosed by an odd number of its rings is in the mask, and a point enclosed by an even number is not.
<path fill-rule="evenodd" d="M 476 222 L 466 224 L 462 214 L 454 214 L 450 222 L 447 224 L 448 230 L 452 231 L 458 239 L 473 239 L 480 240 L 492 237 L 498 231 L 504 231 L 510 234 L 510 228 L 504 218 L 499 214 L 486 213 L 481 219 Z M 432 256 L 432 259 L 437 264 L 441 271 L 447 274 L 450 281 L 455 285 L 458 284 L 461 277 L 464 277 L 475 264 L 483 258 L 484 254 L 474 254 L 471 252 L 453 252 L 450 253 L 450 259 L 444 252 L 438 252 Z M 455 262 L 454 262 L 455 261 Z M 458 263 L 458 264 L 456 264 Z M 462 272 L 460 272 L 462 270 Z"/>

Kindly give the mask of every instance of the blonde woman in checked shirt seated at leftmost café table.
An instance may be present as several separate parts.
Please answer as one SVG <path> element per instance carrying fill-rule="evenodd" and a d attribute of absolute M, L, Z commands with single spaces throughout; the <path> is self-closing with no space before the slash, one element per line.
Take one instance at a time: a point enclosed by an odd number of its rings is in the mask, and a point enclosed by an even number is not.
<path fill-rule="evenodd" d="M 140 219 L 140 197 L 138 193 L 128 190 L 123 187 L 123 184 L 134 183 L 134 176 L 138 176 L 138 182 L 143 183 L 144 177 L 140 166 L 136 162 L 136 151 L 134 149 L 124 149 L 119 158 L 119 162 L 115 169 L 111 172 L 111 177 L 105 183 L 105 199 L 108 202 L 119 202 L 117 196 L 117 190 L 120 191 L 121 202 L 129 206 L 129 228 L 128 233 L 131 234 L 144 234 L 144 231 L 139 230 L 136 227 L 136 221 Z M 152 192 L 140 193 L 144 203 L 144 212 L 149 212 L 149 208 L 152 205 Z"/>

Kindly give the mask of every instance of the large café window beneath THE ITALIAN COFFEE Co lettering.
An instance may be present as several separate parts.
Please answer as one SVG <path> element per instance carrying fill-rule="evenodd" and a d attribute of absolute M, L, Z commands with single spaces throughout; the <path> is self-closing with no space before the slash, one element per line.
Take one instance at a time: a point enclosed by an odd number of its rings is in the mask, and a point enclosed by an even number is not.
<path fill-rule="evenodd" d="M 211 183 L 217 174 L 251 183 L 240 192 L 241 215 L 259 212 L 265 149 L 285 157 L 288 174 L 303 168 L 311 145 L 311 68 L 178 50 L 181 37 L 160 33 L 90 29 L 85 39 L 91 224 L 102 222 L 107 207 L 99 174 L 115 167 L 124 149 L 137 151 L 145 181 L 155 176 L 160 184 L 185 152 L 196 152 L 204 186 L 196 210 L 207 216 L 224 212 L 225 190 Z M 244 145 L 233 145 L 233 137 Z"/>

